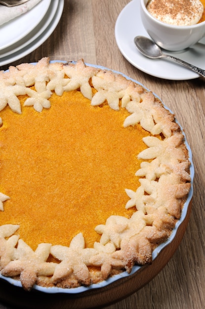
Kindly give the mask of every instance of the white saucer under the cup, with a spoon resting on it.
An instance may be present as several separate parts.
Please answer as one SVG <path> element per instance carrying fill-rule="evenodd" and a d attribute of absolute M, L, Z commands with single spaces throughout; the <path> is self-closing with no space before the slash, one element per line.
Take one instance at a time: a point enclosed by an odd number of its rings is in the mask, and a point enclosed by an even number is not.
<path fill-rule="evenodd" d="M 149 59 L 134 45 L 134 37 L 149 37 L 140 16 L 140 0 L 132 0 L 121 11 L 115 26 L 117 45 L 123 56 L 137 69 L 164 79 L 185 80 L 200 77 L 197 73 L 167 59 Z M 205 70 L 205 38 L 183 52 L 166 52 Z"/>

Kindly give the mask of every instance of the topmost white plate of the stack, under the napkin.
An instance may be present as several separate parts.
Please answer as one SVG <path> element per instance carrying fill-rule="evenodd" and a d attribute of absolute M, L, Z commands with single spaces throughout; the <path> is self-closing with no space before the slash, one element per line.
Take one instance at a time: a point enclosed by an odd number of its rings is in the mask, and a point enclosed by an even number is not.
<path fill-rule="evenodd" d="M 0 26 L 0 50 L 30 33 L 42 20 L 51 0 L 42 0 L 28 12 Z"/>

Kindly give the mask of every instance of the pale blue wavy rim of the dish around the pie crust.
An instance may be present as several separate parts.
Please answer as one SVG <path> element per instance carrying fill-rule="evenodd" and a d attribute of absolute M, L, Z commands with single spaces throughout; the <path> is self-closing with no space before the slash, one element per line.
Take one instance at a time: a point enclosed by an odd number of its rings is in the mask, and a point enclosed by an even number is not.
<path fill-rule="evenodd" d="M 50 61 L 50 63 L 54 63 L 54 62 L 67 63 L 66 61 L 61 61 L 61 60 L 52 60 L 52 61 Z M 69 63 L 76 63 L 76 61 L 70 61 Z M 34 62 L 34 63 L 31 63 L 31 64 L 36 65 L 37 63 Z M 135 80 L 135 79 L 133 79 L 131 77 L 128 77 L 128 76 L 124 75 L 121 72 L 118 72 L 118 71 L 115 71 L 115 70 L 111 70 L 111 69 L 108 69 L 108 68 L 103 67 L 103 66 L 89 64 L 89 63 L 85 63 L 85 65 L 86 66 L 90 66 L 90 67 L 95 67 L 95 68 L 98 68 L 98 69 L 101 69 L 101 70 L 109 70 L 109 71 L 112 71 L 113 73 L 120 74 L 121 76 L 125 77 L 126 79 L 132 80 L 135 83 L 141 85 L 147 91 L 150 91 L 147 87 L 145 87 L 139 81 L 137 81 L 137 80 Z M 155 94 L 154 92 L 153 92 L 153 94 L 154 94 L 155 97 L 157 97 L 162 102 L 164 108 L 166 110 L 168 110 L 171 114 L 173 114 L 173 112 L 168 107 L 166 107 L 164 105 L 164 102 L 160 99 L 160 97 L 157 94 Z M 184 130 L 183 130 L 182 126 L 180 125 L 180 123 L 177 121 L 177 119 L 175 117 L 174 117 L 174 119 L 175 119 L 175 122 L 180 126 L 182 134 L 184 135 L 184 142 L 185 142 L 185 145 L 186 145 L 188 153 L 189 153 L 189 161 L 191 163 L 190 164 L 191 188 L 190 188 L 190 192 L 188 194 L 187 200 L 184 203 L 184 206 L 183 206 L 183 209 L 182 209 L 182 212 L 181 212 L 181 217 L 177 221 L 177 223 L 176 223 L 174 229 L 172 230 L 170 236 L 167 238 L 166 241 L 161 243 L 156 249 L 153 250 L 153 253 L 152 253 L 152 260 L 153 261 L 158 257 L 159 253 L 168 244 L 170 244 L 173 241 L 174 237 L 176 236 L 176 233 L 177 233 L 177 230 L 178 230 L 179 226 L 182 224 L 182 222 L 186 218 L 186 215 L 187 215 L 187 212 L 188 212 L 188 207 L 189 207 L 189 204 L 190 204 L 190 202 L 192 200 L 192 196 L 193 196 L 193 181 L 194 181 L 195 170 L 194 170 L 194 164 L 193 164 L 193 159 L 192 159 L 192 151 L 191 151 L 191 148 L 190 148 L 190 146 L 189 146 L 189 144 L 187 142 L 187 139 L 186 139 L 186 136 L 185 136 L 185 133 L 184 133 Z M 142 268 L 142 266 L 135 265 L 135 266 L 133 266 L 133 268 L 132 268 L 130 273 L 128 273 L 127 271 L 124 270 L 120 274 L 117 274 L 117 275 L 114 275 L 112 277 L 109 277 L 108 279 L 106 279 L 104 281 L 101 281 L 99 283 L 91 284 L 91 285 L 89 285 L 87 287 L 86 286 L 80 286 L 80 287 L 76 287 L 76 288 L 42 287 L 40 285 L 35 284 L 32 289 L 40 291 L 40 292 L 43 292 L 43 293 L 47 293 L 47 294 L 57 294 L 57 293 L 61 293 L 61 294 L 79 294 L 79 293 L 87 292 L 87 291 L 90 291 L 90 290 L 95 290 L 95 289 L 106 287 L 106 286 L 110 285 L 111 283 L 114 283 L 115 281 L 118 281 L 118 280 L 120 280 L 122 278 L 125 278 L 125 277 L 128 277 L 128 276 L 131 276 L 133 274 L 136 274 L 136 272 L 138 270 L 140 270 L 141 268 Z M 7 281 L 7 282 L 9 282 L 10 284 L 12 284 L 14 286 L 22 287 L 22 284 L 21 284 L 21 282 L 19 280 L 16 280 L 16 279 L 13 279 L 13 278 L 10 278 L 10 277 L 5 277 L 5 276 L 3 276 L 1 274 L 0 274 L 0 279 L 3 279 L 5 281 Z"/>

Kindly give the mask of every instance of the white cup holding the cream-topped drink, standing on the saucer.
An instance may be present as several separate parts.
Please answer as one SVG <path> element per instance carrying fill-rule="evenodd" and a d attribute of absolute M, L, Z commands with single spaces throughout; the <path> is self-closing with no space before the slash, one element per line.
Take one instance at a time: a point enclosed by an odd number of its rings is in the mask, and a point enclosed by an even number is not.
<path fill-rule="evenodd" d="M 148 12 L 147 2 L 148 0 L 140 0 L 142 23 L 149 36 L 160 47 L 170 51 L 179 51 L 194 45 L 205 36 L 205 21 L 192 26 L 165 24 Z"/>

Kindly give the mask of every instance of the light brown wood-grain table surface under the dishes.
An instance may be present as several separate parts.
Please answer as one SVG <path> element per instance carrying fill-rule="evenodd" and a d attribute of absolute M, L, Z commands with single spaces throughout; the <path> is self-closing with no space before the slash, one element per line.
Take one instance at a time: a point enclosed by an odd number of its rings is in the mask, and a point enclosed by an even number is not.
<path fill-rule="evenodd" d="M 165 80 L 133 67 L 115 40 L 115 23 L 129 0 L 65 0 L 60 22 L 35 51 L 12 63 L 78 60 L 132 77 L 161 97 L 182 127 L 193 152 L 194 196 L 190 221 L 177 251 L 146 286 L 107 309 L 205 308 L 205 79 Z M 10 65 L 10 64 L 9 64 Z M 0 69 L 7 69 L 9 65 Z M 159 68 L 160 70 L 160 68 Z M 12 296 L 11 296 L 12 297 Z M 0 304 L 0 309 L 11 309 Z"/>

